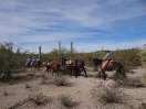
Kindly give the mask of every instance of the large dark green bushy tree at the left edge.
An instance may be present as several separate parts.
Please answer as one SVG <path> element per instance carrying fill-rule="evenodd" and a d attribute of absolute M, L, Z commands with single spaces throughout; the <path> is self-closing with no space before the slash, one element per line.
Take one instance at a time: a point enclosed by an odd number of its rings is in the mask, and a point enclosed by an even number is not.
<path fill-rule="evenodd" d="M 14 53 L 12 50 L 12 41 L 0 43 L 0 75 L 2 80 L 10 80 L 12 78 L 12 72 L 24 67 L 28 52 L 21 53 L 21 48 L 18 48 Z"/>

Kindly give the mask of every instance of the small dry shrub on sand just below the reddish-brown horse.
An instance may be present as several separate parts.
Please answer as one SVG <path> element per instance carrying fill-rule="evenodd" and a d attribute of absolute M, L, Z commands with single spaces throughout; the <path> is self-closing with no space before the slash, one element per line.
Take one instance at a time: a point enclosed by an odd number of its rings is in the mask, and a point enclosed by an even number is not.
<path fill-rule="evenodd" d="M 56 86 L 65 86 L 69 83 L 69 77 L 66 77 L 66 76 L 55 77 L 54 83 Z"/>

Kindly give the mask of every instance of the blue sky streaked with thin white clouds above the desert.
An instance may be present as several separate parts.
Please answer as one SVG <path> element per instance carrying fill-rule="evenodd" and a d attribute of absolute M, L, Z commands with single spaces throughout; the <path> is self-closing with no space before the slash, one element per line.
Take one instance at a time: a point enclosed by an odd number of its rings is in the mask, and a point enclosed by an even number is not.
<path fill-rule="evenodd" d="M 143 47 L 146 0 L 0 0 L 0 42 L 49 53 Z"/>

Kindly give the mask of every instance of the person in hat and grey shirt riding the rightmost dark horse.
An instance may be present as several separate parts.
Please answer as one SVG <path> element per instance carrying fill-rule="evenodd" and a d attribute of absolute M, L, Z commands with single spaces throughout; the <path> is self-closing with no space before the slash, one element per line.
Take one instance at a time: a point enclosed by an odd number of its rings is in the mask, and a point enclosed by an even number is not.
<path fill-rule="evenodd" d="M 111 53 L 109 53 L 109 51 L 108 50 L 106 50 L 105 51 L 105 57 L 104 57 L 104 61 L 103 61 L 103 63 L 102 63 L 102 69 L 104 68 L 106 68 L 106 66 L 107 66 L 107 64 L 108 64 L 108 62 L 112 59 L 112 57 L 111 57 Z"/>

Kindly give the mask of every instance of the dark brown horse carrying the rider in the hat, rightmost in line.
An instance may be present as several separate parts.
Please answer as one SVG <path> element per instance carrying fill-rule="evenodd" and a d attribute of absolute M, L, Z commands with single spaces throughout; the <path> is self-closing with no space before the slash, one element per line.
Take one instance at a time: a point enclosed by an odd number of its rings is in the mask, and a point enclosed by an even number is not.
<path fill-rule="evenodd" d="M 104 75 L 104 80 L 106 79 L 106 75 L 105 75 L 106 70 L 107 72 L 116 70 L 116 73 L 119 73 L 122 76 L 125 77 L 124 66 L 119 62 L 109 61 L 108 64 L 107 64 L 107 66 L 105 68 L 102 68 L 103 61 L 104 59 L 93 58 L 93 64 L 94 64 L 95 67 L 98 66 L 101 68 L 101 72 Z"/>

